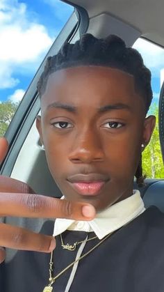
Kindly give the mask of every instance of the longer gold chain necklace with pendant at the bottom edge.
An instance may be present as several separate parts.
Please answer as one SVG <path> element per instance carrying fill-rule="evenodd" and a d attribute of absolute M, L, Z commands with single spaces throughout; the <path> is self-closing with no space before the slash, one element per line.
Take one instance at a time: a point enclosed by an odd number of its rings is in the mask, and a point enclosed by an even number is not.
<path fill-rule="evenodd" d="M 52 272 L 53 272 L 53 252 L 51 252 L 51 257 L 50 257 L 50 261 L 49 261 L 49 285 L 44 287 L 43 292 L 51 292 L 53 290 L 53 284 L 54 282 L 56 282 L 56 279 L 58 279 L 61 275 L 63 275 L 64 272 L 66 272 L 69 268 L 71 268 L 72 266 L 74 266 L 74 263 L 77 263 L 79 261 L 81 261 L 81 259 L 85 258 L 85 256 L 88 256 L 88 254 L 90 254 L 94 249 L 96 249 L 97 247 L 99 247 L 99 245 L 101 245 L 101 243 L 104 243 L 104 241 L 112 234 L 113 232 L 109 233 L 106 237 L 104 237 L 101 241 L 99 241 L 99 243 L 97 243 L 97 245 L 95 245 L 94 247 L 92 247 L 88 252 L 85 252 L 85 254 L 83 254 L 83 256 L 80 256 L 78 259 L 76 259 L 75 261 L 73 261 L 72 263 L 69 264 L 69 266 L 67 266 L 66 268 L 64 268 L 63 270 L 61 270 L 55 277 L 52 277 Z"/>

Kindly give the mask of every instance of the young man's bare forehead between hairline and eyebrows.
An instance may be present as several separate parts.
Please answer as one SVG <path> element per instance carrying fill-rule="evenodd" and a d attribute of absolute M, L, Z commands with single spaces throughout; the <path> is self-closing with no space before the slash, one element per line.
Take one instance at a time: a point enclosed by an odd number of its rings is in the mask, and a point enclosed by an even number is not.
<path fill-rule="evenodd" d="M 54 72 L 42 95 L 42 108 L 53 102 L 81 102 L 90 107 L 106 103 L 128 103 L 136 107 L 142 98 L 135 91 L 133 76 L 115 68 L 81 66 Z M 142 107 L 144 104 L 142 102 Z"/>

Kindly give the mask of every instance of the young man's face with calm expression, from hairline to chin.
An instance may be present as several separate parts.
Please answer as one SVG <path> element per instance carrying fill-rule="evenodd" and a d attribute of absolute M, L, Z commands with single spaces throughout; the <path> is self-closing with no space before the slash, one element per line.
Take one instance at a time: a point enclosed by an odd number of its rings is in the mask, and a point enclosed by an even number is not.
<path fill-rule="evenodd" d="M 83 66 L 50 75 L 37 127 L 63 195 L 102 210 L 132 194 L 154 118 L 145 119 L 131 75 Z"/>

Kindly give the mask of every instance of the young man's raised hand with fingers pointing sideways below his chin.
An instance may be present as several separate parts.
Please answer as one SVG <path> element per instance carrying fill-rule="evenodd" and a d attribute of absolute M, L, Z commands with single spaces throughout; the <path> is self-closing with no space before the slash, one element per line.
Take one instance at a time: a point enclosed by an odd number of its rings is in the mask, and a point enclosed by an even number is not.
<path fill-rule="evenodd" d="M 8 142 L 0 138 L 0 160 L 8 151 Z M 19 180 L 0 176 L 0 217 L 44 217 L 92 220 L 95 208 L 86 203 L 75 203 L 35 194 Z M 51 252 L 55 248 L 52 236 L 37 234 L 27 229 L 0 223 L 0 263 L 5 259 L 2 247 Z"/>

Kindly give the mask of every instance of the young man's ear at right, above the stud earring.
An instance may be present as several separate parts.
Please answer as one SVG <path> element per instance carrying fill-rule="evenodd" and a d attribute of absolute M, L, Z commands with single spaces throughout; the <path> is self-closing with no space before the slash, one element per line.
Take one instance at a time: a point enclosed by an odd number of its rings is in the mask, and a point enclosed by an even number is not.
<path fill-rule="evenodd" d="M 144 146 L 147 146 L 147 144 L 149 144 L 155 125 L 156 125 L 155 116 L 148 116 L 148 118 L 145 118 L 142 138 L 142 143 L 144 144 Z"/>

